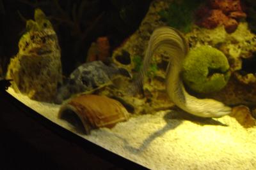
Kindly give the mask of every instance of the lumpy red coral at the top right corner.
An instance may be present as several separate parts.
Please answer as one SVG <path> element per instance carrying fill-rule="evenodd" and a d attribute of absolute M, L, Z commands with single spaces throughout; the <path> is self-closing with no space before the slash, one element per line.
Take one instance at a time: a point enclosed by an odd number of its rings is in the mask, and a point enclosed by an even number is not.
<path fill-rule="evenodd" d="M 205 16 L 202 18 L 202 16 Z M 223 24 L 228 33 L 236 31 L 239 20 L 246 18 L 239 0 L 210 0 L 208 6 L 202 6 L 197 12 L 197 25 L 214 29 Z"/>

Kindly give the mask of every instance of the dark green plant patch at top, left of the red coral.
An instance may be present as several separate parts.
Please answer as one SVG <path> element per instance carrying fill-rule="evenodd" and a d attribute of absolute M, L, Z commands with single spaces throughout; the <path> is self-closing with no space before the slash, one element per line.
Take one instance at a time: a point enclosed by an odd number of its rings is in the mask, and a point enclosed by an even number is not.
<path fill-rule="evenodd" d="M 191 31 L 194 11 L 203 0 L 174 0 L 167 10 L 159 11 L 159 15 L 170 27 L 186 33 Z"/>

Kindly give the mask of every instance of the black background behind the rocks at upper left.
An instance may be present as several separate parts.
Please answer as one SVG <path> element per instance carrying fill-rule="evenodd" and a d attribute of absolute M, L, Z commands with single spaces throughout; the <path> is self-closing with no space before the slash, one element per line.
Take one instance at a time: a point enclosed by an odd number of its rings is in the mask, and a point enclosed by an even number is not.
<path fill-rule="evenodd" d="M 61 47 L 63 73 L 85 62 L 88 48 L 107 36 L 111 51 L 138 29 L 152 0 L 0 0 L 0 67 L 18 52 L 26 20 L 40 8 L 52 22 Z"/>

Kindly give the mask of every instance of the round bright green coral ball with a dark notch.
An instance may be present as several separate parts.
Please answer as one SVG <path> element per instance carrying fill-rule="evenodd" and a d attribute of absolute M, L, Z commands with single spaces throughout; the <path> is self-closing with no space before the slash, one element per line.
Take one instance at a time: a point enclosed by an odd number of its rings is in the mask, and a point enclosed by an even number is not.
<path fill-rule="evenodd" d="M 211 46 L 190 50 L 183 63 L 185 85 L 198 93 L 221 90 L 230 77 L 229 64 L 223 52 Z"/>

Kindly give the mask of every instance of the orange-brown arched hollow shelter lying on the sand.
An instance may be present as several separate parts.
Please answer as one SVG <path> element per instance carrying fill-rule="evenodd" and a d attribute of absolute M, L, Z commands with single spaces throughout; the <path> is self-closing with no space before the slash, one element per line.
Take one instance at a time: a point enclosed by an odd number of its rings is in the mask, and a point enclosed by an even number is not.
<path fill-rule="evenodd" d="M 83 123 L 86 134 L 91 129 L 113 127 L 118 122 L 128 120 L 129 113 L 118 101 L 106 96 L 84 94 L 72 98 L 61 106 L 58 113 L 63 118 L 67 111 L 73 111 Z"/>

